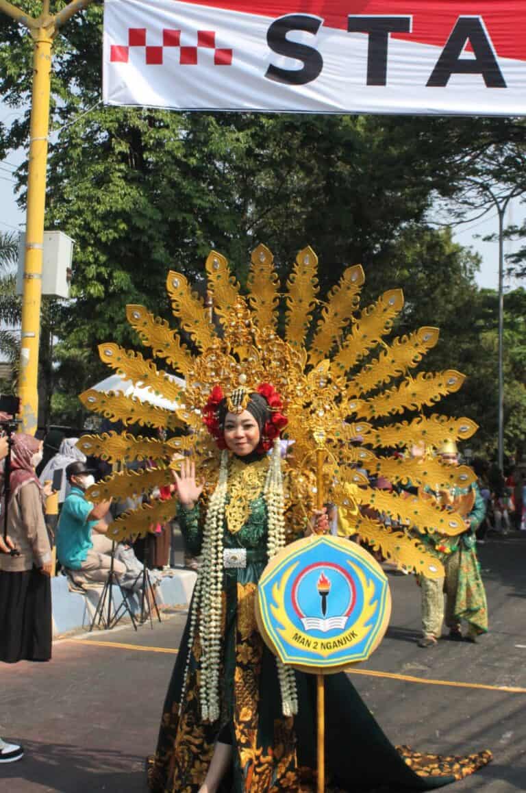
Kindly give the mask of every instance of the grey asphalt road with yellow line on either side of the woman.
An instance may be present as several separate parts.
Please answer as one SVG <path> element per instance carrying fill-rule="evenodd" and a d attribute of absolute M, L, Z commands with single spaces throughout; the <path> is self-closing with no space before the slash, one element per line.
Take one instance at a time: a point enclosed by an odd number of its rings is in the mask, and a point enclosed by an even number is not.
<path fill-rule="evenodd" d="M 390 629 L 351 680 L 394 743 L 442 753 L 491 749 L 494 760 L 451 793 L 526 790 L 526 537 L 479 548 L 490 629 L 477 645 L 420 649 L 419 591 L 389 573 Z M 56 642 L 48 664 L 0 667 L 0 735 L 26 756 L 0 766 L 2 793 L 145 791 L 185 613 Z M 514 690 L 518 689 L 518 690 Z"/>

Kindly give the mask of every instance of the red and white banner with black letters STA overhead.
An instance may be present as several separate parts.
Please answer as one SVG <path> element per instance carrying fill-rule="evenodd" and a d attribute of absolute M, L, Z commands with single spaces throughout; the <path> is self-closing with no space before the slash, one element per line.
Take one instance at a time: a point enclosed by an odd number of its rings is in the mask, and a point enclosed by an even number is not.
<path fill-rule="evenodd" d="M 104 102 L 526 115 L 524 0 L 106 0 Z"/>

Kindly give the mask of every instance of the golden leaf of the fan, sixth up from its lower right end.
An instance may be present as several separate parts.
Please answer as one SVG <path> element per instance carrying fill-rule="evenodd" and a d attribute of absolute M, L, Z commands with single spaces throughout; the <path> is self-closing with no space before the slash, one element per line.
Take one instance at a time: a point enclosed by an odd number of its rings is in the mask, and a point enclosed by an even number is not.
<path fill-rule="evenodd" d="M 405 374 L 422 360 L 423 356 L 435 347 L 440 331 L 438 328 L 419 328 L 417 331 L 393 339 L 376 360 L 352 378 L 347 384 L 347 393 L 363 394 L 389 382 L 393 377 Z"/>

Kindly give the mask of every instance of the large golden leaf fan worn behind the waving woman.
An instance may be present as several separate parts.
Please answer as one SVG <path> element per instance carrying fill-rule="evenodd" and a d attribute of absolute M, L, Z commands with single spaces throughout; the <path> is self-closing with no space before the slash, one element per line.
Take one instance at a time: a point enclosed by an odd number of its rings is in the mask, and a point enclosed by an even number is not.
<path fill-rule="evenodd" d="M 81 395 L 91 411 L 125 427 L 155 427 L 163 438 L 147 439 L 129 431 L 83 436 L 78 446 L 84 454 L 121 467 L 90 488 L 90 500 L 148 496 L 170 483 L 170 467 L 177 465 L 174 454 L 190 450 L 206 487 L 213 488 L 221 453 L 202 419 L 209 393 L 214 385 L 228 394 L 240 385 L 255 389 L 267 382 L 281 394 L 289 419 L 283 437 L 294 441 L 293 454 L 284 464 L 291 523 L 305 526 L 305 516 L 298 519 L 292 512 L 316 500 L 316 450 L 323 449 L 324 498 L 336 504 L 348 533 L 359 533 L 374 550 L 405 569 L 428 577 L 443 575 L 440 561 L 419 542 L 419 534 L 455 535 L 465 526 L 459 511 L 441 508 L 424 496 L 424 488 L 466 488 L 475 480 L 474 473 L 432 457 L 418 465 L 392 454 L 393 449 L 413 444 L 437 447 L 445 440 L 462 441 L 477 429 L 470 419 L 422 414 L 425 406 L 435 408 L 441 397 L 457 391 L 464 379 L 455 370 L 411 374 L 435 346 L 439 331 L 418 328 L 388 342 L 404 305 L 403 294 L 390 289 L 360 309 L 364 274 L 359 265 L 347 268 L 321 301 L 317 255 L 310 247 L 298 253 L 284 293 L 273 255 L 264 245 L 251 255 L 246 295 L 221 254 L 212 251 L 205 268 L 215 320 L 185 276 L 170 272 L 167 293 L 175 328 L 144 306 L 126 309 L 129 324 L 152 359 L 113 343 L 99 347 L 102 361 L 117 374 L 171 400 L 175 408 L 156 408 L 122 393 L 88 390 Z M 160 362 L 171 371 L 160 369 Z M 184 389 L 175 384 L 173 374 L 184 378 Z M 148 461 L 148 467 L 127 470 L 134 461 Z M 394 485 L 410 481 L 417 495 L 408 498 L 371 487 L 370 478 L 380 476 Z M 109 534 L 117 540 L 146 534 L 175 512 L 173 498 L 150 499 L 114 520 Z M 386 525 L 386 515 L 397 529 Z"/>

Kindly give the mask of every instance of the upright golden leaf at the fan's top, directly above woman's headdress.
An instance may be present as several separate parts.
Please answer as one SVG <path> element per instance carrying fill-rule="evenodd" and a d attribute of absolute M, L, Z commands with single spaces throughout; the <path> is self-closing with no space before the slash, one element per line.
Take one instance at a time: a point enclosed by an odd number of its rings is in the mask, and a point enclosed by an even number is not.
<path fill-rule="evenodd" d="M 258 328 L 275 331 L 278 322 L 279 282 L 274 256 L 265 245 L 258 245 L 251 254 L 248 272 L 248 305 Z"/>

